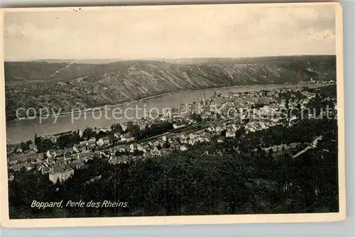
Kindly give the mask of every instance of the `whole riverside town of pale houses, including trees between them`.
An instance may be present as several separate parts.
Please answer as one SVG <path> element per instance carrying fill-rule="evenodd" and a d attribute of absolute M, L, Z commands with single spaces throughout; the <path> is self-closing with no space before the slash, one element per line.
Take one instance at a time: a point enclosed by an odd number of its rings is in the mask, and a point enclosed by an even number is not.
<path fill-rule="evenodd" d="M 314 92 L 292 88 L 201 97 L 196 102 L 182 104 L 173 112 L 165 112 L 155 120 L 133 121 L 140 130 L 149 129 L 158 121 L 173 124 L 173 129 L 163 134 L 136 140 L 132 131 L 126 131 L 127 124 L 121 124 L 122 131 L 95 129 L 97 135 L 104 135 L 102 137 L 82 138 L 82 131 L 79 131 L 81 141 L 70 148 L 53 148 L 39 153 L 32 143 L 25 151 L 21 146 L 9 149 L 9 168 L 13 171 L 35 168 L 48 174 L 56 183 L 69 178 L 75 169 L 94 157 L 113 164 L 128 163 L 130 160 L 164 156 L 171 151 L 187 151 L 191 146 L 211 143 L 212 140 L 222 143 L 225 139 L 235 138 L 240 131 L 249 134 L 285 124 L 285 121 L 291 126 L 298 117 L 283 118 L 283 110 L 307 107 L 315 96 Z M 54 144 L 58 141 L 56 136 L 46 138 Z M 278 151 L 282 146 L 293 148 L 295 145 L 275 145 L 264 149 Z"/>

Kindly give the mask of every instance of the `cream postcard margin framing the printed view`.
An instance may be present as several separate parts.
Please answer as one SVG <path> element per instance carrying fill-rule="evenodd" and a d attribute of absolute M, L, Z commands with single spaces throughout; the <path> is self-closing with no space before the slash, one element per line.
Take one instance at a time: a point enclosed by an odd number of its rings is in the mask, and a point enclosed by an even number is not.
<path fill-rule="evenodd" d="M 277 3 L 278 5 L 282 5 Z M 283 3 L 285 5 L 285 3 Z M 4 82 L 4 13 L 9 11 L 72 11 L 77 7 L 55 8 L 23 8 L 0 9 L 0 227 L 26 228 L 26 227 L 89 227 L 89 226 L 129 226 L 129 225 L 198 225 L 198 224 L 231 224 L 231 223 L 275 223 L 275 222 L 335 222 L 346 217 L 345 194 L 345 136 L 344 136 L 344 52 L 343 52 L 343 14 L 342 4 L 339 2 L 327 3 L 288 3 L 287 6 L 332 4 L 336 9 L 336 45 L 337 45 L 337 108 L 338 108 L 338 136 L 339 136 L 339 212 L 334 213 L 305 213 L 305 214 L 273 214 L 273 215 L 198 215 L 198 216 L 168 216 L 168 217 L 93 217 L 93 218 L 45 218 L 45 219 L 9 219 L 8 200 L 8 174 L 6 158 L 6 117 L 5 117 L 5 82 Z M 255 4 L 258 5 L 258 4 Z M 263 6 L 268 4 L 263 4 Z M 201 5 L 170 5 L 170 6 L 97 6 L 82 7 L 83 11 L 104 11 L 105 9 L 152 7 L 177 7 L 181 11 L 184 8 Z M 213 8 L 214 4 L 209 4 Z"/>

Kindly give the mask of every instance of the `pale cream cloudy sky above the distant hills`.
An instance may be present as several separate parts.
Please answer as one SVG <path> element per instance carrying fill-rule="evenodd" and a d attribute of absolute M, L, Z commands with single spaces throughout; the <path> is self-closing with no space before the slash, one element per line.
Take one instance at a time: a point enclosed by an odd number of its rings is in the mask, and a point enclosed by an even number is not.
<path fill-rule="evenodd" d="M 335 54 L 334 4 L 6 12 L 6 61 Z"/>

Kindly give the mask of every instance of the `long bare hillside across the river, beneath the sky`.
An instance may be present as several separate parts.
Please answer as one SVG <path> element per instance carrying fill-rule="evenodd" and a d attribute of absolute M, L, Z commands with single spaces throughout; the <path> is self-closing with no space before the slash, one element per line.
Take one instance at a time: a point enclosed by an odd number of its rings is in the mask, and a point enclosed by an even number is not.
<path fill-rule="evenodd" d="M 5 63 L 6 119 L 14 119 L 18 107 L 60 107 L 62 111 L 70 111 L 72 107 L 116 104 L 178 90 L 336 77 L 334 55 L 114 63 L 54 61 Z"/>

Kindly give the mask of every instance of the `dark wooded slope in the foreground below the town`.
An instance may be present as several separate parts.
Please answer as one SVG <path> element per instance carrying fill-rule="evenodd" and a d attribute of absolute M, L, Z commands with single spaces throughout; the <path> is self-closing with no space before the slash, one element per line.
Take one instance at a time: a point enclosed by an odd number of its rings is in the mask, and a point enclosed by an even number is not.
<path fill-rule="evenodd" d="M 318 92 L 318 91 L 317 91 Z M 320 92 L 323 94 L 330 92 Z M 334 96 L 335 97 L 335 96 Z M 324 105 L 322 104 L 322 107 Z M 140 138 L 170 129 L 159 122 L 139 130 Z M 337 212 L 338 141 L 337 121 L 302 119 L 293 126 L 274 126 L 217 143 L 217 137 L 195 144 L 187 151 L 172 151 L 162 157 L 133 158 L 112 165 L 106 157 L 94 158 L 75 170 L 72 178 L 59 185 L 48 175 L 34 171 L 11 171 L 9 205 L 11 218 L 90 217 L 140 215 L 205 215 L 286 212 Z M 316 148 L 302 156 L 292 154 L 305 148 L 317 136 Z M 144 137 L 144 138 L 146 138 Z M 49 142 L 44 140 L 43 144 Z M 299 142 L 292 152 L 268 152 L 262 148 Z M 57 145 L 58 146 L 58 145 Z M 163 144 L 168 147 L 168 141 Z M 254 150 L 257 148 L 256 150 Z M 205 153 L 205 152 L 208 153 Z M 116 156 L 128 155 L 116 151 Z M 134 151 L 133 156 L 141 156 Z M 34 210 L 39 200 L 120 200 L 121 208 L 64 208 Z"/>

